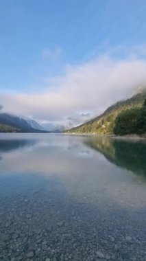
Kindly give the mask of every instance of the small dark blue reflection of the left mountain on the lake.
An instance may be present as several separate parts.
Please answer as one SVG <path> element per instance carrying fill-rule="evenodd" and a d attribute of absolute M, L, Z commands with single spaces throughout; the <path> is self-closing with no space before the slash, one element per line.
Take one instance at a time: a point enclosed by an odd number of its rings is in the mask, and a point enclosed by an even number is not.
<path fill-rule="evenodd" d="M 36 144 L 36 140 L 32 139 L 1 139 L 0 140 L 0 152 L 9 152 L 11 150 L 18 150 L 25 146 L 33 146 Z"/>

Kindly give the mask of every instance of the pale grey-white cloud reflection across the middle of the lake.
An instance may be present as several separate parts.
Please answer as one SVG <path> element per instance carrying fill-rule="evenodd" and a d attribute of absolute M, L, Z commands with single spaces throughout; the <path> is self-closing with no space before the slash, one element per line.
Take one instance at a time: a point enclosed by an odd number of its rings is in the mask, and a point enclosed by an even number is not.
<path fill-rule="evenodd" d="M 0 172 L 26 174 L 26 177 L 27 174 L 34 174 L 34 179 L 38 174 L 48 181 L 50 177 L 58 179 L 68 194 L 84 203 L 100 203 L 105 207 L 117 204 L 136 209 L 141 198 L 141 205 L 145 204 L 145 183 L 141 183 L 141 179 L 131 172 L 111 164 L 89 148 L 92 146 L 86 147 L 85 144 L 93 139 L 53 135 L 38 137 L 33 146 L 29 147 L 30 139 L 26 149 L 17 146 L 18 149 L 3 153 Z M 101 141 L 96 139 L 96 142 L 97 145 Z M 101 144 L 114 155 L 115 149 L 110 146 L 110 139 Z M 27 150 L 27 147 L 32 150 Z"/>

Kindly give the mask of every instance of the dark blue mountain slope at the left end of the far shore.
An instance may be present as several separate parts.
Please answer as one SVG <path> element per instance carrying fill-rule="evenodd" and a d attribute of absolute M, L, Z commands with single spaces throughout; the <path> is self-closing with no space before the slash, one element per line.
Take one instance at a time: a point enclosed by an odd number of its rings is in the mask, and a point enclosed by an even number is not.
<path fill-rule="evenodd" d="M 17 117 L 9 113 L 0 113 L 0 132 L 3 133 L 47 133 L 33 128 L 22 117 Z"/>

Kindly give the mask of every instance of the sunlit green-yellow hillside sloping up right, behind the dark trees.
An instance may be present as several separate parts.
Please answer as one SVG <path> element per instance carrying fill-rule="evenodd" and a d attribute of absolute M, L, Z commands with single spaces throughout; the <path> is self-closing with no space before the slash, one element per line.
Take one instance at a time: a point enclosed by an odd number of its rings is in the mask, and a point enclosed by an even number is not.
<path fill-rule="evenodd" d="M 122 100 L 108 107 L 104 113 L 84 124 L 71 128 L 66 133 L 114 133 L 117 116 L 123 111 L 142 108 L 146 98 L 146 89 L 127 100 Z"/>

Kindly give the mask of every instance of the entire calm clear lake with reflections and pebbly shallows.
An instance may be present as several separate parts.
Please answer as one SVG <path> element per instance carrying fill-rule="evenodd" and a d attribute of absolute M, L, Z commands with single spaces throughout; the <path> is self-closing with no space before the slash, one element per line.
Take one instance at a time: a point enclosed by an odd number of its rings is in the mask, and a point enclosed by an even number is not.
<path fill-rule="evenodd" d="M 0 136 L 0 260 L 146 260 L 146 143 Z"/>

